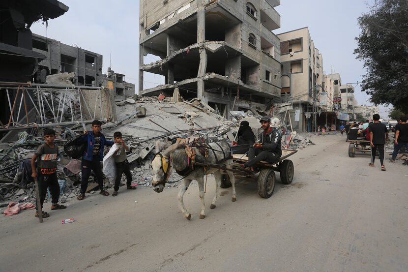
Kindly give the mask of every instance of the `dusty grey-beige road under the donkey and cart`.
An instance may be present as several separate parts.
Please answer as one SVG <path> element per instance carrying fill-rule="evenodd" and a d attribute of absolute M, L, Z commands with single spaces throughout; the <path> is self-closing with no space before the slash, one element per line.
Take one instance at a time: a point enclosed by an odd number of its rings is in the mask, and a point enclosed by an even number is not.
<path fill-rule="evenodd" d="M 408 167 L 386 160 L 381 172 L 368 155 L 349 158 L 345 136 L 313 140 L 291 157 L 292 184 L 277 183 L 269 199 L 241 180 L 236 202 L 222 189 L 210 210 L 209 178 L 202 220 L 196 183 L 185 196 L 191 221 L 178 188 L 121 187 L 117 197 L 72 199 L 64 211 L 48 204 L 42 224 L 33 211 L 1 216 L 0 271 L 406 272 Z"/>

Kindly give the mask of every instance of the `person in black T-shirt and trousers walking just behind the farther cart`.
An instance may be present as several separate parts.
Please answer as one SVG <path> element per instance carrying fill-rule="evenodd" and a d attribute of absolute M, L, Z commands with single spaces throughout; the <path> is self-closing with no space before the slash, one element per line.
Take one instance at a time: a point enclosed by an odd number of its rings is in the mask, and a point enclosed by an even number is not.
<path fill-rule="evenodd" d="M 387 126 L 379 121 L 379 115 L 373 115 L 374 123 L 369 124 L 368 130 L 370 131 L 370 145 L 371 145 L 371 158 L 372 162 L 370 166 L 374 167 L 374 160 L 376 159 L 376 152 L 379 151 L 379 160 L 381 162 L 381 171 L 385 171 L 384 166 L 384 145 L 388 141 L 388 129 Z"/>

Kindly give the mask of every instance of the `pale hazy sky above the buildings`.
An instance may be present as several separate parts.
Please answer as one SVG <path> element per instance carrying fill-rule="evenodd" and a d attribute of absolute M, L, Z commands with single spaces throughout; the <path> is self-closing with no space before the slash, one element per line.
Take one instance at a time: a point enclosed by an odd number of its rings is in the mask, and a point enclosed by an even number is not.
<path fill-rule="evenodd" d="M 127 82 L 138 90 L 139 80 L 139 0 L 61 0 L 68 12 L 49 21 L 48 30 L 41 22 L 31 31 L 69 45 L 103 55 L 103 72 L 111 67 L 126 75 Z M 372 0 L 368 0 L 372 2 Z M 326 74 L 340 73 L 342 83 L 361 82 L 365 73 L 362 62 L 355 59 L 354 38 L 359 34 L 357 17 L 366 12 L 366 0 L 281 0 L 276 10 L 281 28 L 275 34 L 309 27 L 315 46 L 323 57 Z M 150 58 L 147 62 L 152 62 Z M 146 60 L 145 60 L 146 63 Z M 145 88 L 163 83 L 163 77 L 145 76 Z M 370 104 L 369 95 L 355 85 L 358 104 Z M 380 106 L 380 115 L 386 116 Z"/>

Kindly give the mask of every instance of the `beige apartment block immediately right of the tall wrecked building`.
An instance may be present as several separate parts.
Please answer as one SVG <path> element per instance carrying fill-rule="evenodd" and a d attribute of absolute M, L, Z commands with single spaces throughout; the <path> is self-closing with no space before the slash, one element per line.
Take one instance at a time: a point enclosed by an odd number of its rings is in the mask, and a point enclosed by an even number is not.
<path fill-rule="evenodd" d="M 316 112 L 320 107 L 319 93 L 324 85 L 322 55 L 307 27 L 277 36 L 281 40 L 281 94 L 293 101 L 291 115 L 300 110 L 299 121 L 292 123 L 293 129 L 312 131 L 311 113 L 313 106 Z"/>

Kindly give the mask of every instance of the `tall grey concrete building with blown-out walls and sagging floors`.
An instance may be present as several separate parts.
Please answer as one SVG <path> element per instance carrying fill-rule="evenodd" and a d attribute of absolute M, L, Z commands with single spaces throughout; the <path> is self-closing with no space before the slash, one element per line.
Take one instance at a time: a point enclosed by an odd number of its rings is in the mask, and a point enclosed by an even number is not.
<path fill-rule="evenodd" d="M 258 107 L 281 93 L 280 0 L 141 0 L 142 95 L 200 98 L 220 111 Z M 151 54 L 160 60 L 145 63 Z M 144 90 L 149 74 L 165 82 Z M 146 80 L 148 81 L 148 80 Z M 236 99 L 235 99 L 236 98 Z"/>

